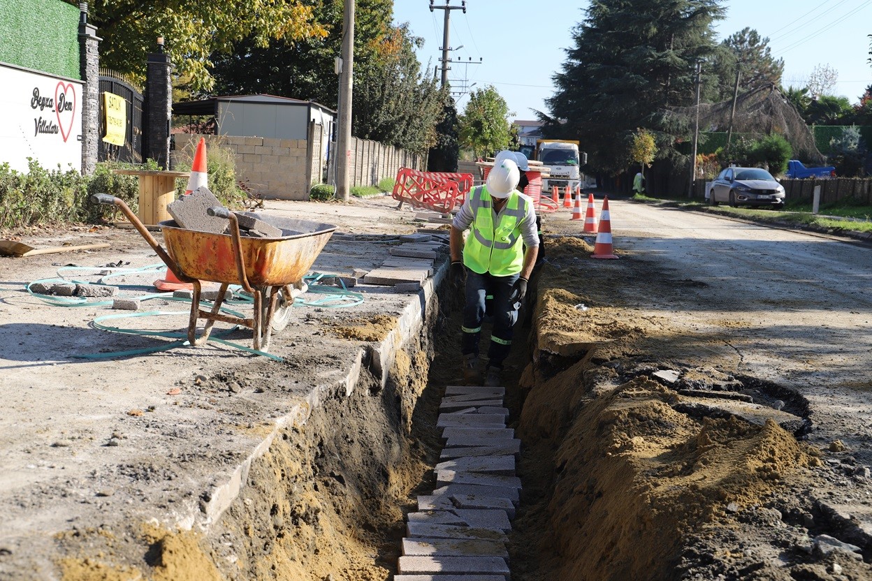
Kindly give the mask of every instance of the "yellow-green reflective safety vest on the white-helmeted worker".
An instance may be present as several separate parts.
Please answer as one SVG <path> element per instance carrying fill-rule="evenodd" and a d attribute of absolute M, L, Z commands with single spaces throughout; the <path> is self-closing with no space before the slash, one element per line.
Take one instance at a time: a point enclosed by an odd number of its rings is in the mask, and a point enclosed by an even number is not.
<path fill-rule="evenodd" d="M 494 227 L 494 202 L 486 186 L 473 189 L 469 206 L 473 212 L 471 233 L 463 247 L 463 264 L 478 274 L 518 274 L 524 266 L 521 221 L 529 200 L 514 191 L 509 194 L 500 220 Z"/>

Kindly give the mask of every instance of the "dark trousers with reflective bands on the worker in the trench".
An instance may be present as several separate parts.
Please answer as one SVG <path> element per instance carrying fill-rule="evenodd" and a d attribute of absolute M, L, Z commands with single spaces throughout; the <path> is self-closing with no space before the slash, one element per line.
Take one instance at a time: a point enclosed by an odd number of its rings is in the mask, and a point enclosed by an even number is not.
<path fill-rule="evenodd" d="M 485 318 L 485 297 L 493 295 L 491 313 L 494 315 L 494 328 L 491 331 L 490 347 L 487 349 L 488 365 L 502 368 L 502 361 L 512 348 L 514 323 L 518 321 L 518 310 L 508 301 L 512 285 L 519 274 L 511 276 L 492 276 L 478 274 L 467 268 L 467 304 L 463 307 L 463 340 L 460 352 L 463 355 L 479 354 L 481 321 Z"/>

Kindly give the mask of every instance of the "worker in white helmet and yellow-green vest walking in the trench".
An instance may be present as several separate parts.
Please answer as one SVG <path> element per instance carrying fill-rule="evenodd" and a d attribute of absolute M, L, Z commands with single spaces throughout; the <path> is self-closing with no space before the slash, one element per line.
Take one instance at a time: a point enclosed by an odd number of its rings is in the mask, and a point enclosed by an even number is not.
<path fill-rule="evenodd" d="M 457 289 L 466 282 L 460 353 L 469 385 L 481 384 L 479 340 L 488 294 L 494 297 L 494 325 L 484 384 L 501 384 L 503 361 L 512 348 L 514 323 L 539 251 L 533 200 L 515 189 L 520 179 L 514 154 L 500 152 L 486 185 L 470 191 L 451 225 L 451 282 Z M 464 244 L 467 229 L 471 231 Z"/>

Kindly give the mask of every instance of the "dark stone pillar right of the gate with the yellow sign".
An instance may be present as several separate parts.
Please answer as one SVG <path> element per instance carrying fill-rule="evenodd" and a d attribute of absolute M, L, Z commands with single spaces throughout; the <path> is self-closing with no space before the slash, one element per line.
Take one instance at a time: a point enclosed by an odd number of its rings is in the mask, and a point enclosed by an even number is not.
<path fill-rule="evenodd" d="M 169 159 L 169 128 L 173 113 L 173 64 L 163 51 L 163 38 L 158 38 L 158 52 L 148 53 L 146 71 L 145 119 L 143 120 L 143 157 L 154 159 L 166 170 L 172 169 Z"/>

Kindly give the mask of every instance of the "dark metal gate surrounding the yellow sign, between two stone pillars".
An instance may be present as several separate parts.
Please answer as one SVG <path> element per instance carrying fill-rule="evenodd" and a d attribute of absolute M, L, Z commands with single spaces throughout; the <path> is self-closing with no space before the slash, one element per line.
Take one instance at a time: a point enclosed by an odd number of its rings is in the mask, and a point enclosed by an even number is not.
<path fill-rule="evenodd" d="M 103 111 L 103 93 L 123 97 L 127 104 L 127 127 L 124 145 L 112 145 L 102 138 L 98 140 L 98 161 L 121 161 L 128 164 L 142 163 L 142 91 L 123 75 L 100 69 L 99 96 L 100 136 L 106 135 L 106 115 Z"/>

